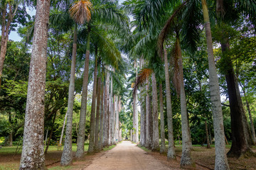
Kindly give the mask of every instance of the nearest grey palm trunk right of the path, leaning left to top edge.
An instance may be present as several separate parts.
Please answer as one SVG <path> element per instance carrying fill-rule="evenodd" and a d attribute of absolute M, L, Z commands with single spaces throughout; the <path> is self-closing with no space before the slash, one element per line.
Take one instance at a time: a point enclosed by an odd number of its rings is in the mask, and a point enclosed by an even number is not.
<path fill-rule="evenodd" d="M 213 56 L 213 42 L 210 33 L 210 19 L 206 0 L 202 0 L 203 18 L 206 28 L 206 42 L 209 64 L 210 79 L 210 101 L 213 111 L 213 127 L 215 136 L 215 170 L 229 169 L 228 159 L 225 154 L 225 135 L 223 125 L 223 113 L 220 103 L 220 88 L 218 86 L 218 76 Z"/>

